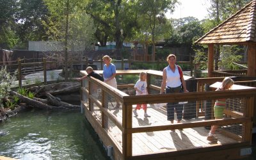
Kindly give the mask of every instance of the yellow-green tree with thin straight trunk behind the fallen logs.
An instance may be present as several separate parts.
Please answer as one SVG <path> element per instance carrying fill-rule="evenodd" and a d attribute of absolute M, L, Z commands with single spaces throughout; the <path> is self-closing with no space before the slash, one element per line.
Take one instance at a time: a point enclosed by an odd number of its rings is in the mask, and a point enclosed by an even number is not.
<path fill-rule="evenodd" d="M 68 79 L 68 49 L 70 49 L 72 33 L 79 28 L 82 31 L 86 26 L 81 26 L 86 22 L 79 22 L 76 24 L 77 20 L 86 20 L 82 17 L 84 16 L 83 5 L 86 3 L 85 0 L 44 0 L 50 15 L 47 21 L 44 21 L 45 27 L 47 28 L 47 34 L 52 40 L 58 40 L 63 42 L 65 51 L 65 81 Z M 89 22 L 89 21 L 88 21 Z M 73 24 L 73 25 L 72 25 Z M 74 25 L 76 24 L 76 25 Z M 76 29 L 72 29 L 76 27 Z M 92 29 L 92 28 L 90 28 Z M 92 30 L 88 33 L 94 33 Z M 79 39 L 79 38 L 77 38 Z M 83 38 L 80 37 L 80 40 Z"/>

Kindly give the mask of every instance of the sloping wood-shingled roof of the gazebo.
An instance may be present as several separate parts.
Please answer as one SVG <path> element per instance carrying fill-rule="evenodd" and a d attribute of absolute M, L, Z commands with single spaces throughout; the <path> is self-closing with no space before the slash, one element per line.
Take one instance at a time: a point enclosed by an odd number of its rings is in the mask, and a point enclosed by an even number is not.
<path fill-rule="evenodd" d="M 204 36 L 196 40 L 196 44 L 239 44 L 256 42 L 256 0 L 246 4 Z"/>

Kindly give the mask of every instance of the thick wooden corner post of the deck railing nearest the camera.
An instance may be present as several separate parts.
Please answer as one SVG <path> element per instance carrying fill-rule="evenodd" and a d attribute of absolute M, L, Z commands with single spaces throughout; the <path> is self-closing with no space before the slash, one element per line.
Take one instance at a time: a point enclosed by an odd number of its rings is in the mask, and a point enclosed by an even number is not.
<path fill-rule="evenodd" d="M 123 105 L 123 159 L 132 156 L 132 133 L 126 133 L 127 129 L 132 128 L 132 105 Z"/>

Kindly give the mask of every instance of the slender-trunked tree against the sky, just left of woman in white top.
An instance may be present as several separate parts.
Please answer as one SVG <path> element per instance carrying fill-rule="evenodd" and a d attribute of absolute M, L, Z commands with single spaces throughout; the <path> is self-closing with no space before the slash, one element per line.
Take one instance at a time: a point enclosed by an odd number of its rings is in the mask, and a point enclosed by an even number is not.
<path fill-rule="evenodd" d="M 157 31 L 161 24 L 165 23 L 165 15 L 168 10 L 173 12 L 176 0 L 138 0 L 139 15 L 143 17 L 143 24 L 147 25 L 152 38 L 152 60 L 155 60 L 155 44 L 157 42 Z"/>

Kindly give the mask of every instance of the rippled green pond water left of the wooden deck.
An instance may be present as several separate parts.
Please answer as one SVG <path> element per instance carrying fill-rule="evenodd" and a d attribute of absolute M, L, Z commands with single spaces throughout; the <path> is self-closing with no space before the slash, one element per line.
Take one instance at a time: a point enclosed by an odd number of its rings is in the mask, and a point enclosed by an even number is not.
<path fill-rule="evenodd" d="M 16 159 L 108 159 L 79 111 L 32 109 L 0 123 L 0 156 Z"/>

